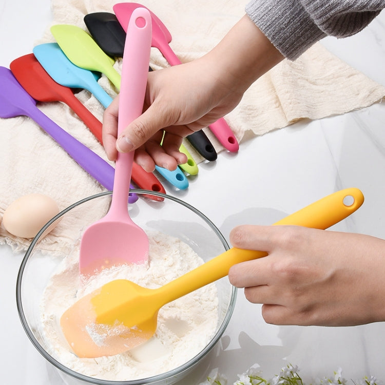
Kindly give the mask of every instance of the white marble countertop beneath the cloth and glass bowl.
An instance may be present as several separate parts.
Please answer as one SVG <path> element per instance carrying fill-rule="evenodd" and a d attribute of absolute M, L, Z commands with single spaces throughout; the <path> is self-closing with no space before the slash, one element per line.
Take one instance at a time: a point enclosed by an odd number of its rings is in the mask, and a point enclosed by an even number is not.
<path fill-rule="evenodd" d="M 8 67 L 16 57 L 30 53 L 50 17 L 50 0 L 2 0 L 0 65 Z M 326 38 L 322 43 L 385 86 L 384 36 L 382 13 L 359 34 L 345 40 Z M 271 224 L 345 187 L 360 188 L 365 203 L 334 228 L 384 238 L 383 103 L 268 133 L 242 143 L 237 155 L 222 152 L 216 162 L 200 165 L 198 177 L 178 197 L 205 213 L 227 237 L 237 224 Z M 17 315 L 15 282 L 22 258 L 23 253 L 0 246 L 2 383 L 61 385 L 63 380 L 30 343 Z M 331 376 L 341 367 L 345 378 L 374 375 L 383 381 L 384 336 L 384 323 L 350 328 L 267 325 L 260 306 L 248 303 L 239 291 L 219 355 L 208 369 L 198 368 L 183 383 L 198 383 L 218 368 L 232 384 L 238 373 L 254 364 L 268 376 L 287 363 L 297 364 L 304 378 Z"/>

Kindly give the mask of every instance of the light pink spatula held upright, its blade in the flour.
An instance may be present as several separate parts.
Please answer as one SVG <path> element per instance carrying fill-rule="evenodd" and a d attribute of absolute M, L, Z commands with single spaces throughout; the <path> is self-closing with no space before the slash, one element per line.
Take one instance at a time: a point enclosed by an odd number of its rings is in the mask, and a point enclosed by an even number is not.
<path fill-rule="evenodd" d="M 151 16 L 144 8 L 132 12 L 122 64 L 118 134 L 142 113 L 151 47 Z M 133 152 L 119 153 L 111 206 L 104 218 L 89 226 L 81 240 L 81 274 L 113 265 L 143 263 L 148 257 L 148 238 L 133 223 L 127 207 Z"/>

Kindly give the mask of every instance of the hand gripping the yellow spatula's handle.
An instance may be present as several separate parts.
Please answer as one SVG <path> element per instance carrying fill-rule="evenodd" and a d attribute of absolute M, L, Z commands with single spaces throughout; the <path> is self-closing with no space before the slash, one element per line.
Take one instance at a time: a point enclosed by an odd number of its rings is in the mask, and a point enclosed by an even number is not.
<path fill-rule="evenodd" d="M 230 268 L 267 323 L 347 326 L 385 320 L 385 241 L 300 226 L 239 226 L 239 248 L 268 256 Z"/>

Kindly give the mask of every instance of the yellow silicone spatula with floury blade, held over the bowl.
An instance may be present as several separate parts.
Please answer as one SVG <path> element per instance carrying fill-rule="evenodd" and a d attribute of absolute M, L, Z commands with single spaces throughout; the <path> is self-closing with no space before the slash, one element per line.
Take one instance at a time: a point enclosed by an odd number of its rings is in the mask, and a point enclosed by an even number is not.
<path fill-rule="evenodd" d="M 353 202 L 347 202 L 347 198 L 353 198 Z M 325 229 L 348 217 L 362 203 L 359 189 L 340 190 L 275 225 Z M 60 322 L 64 336 L 79 357 L 108 356 L 132 349 L 155 333 L 158 311 L 163 305 L 226 276 L 236 263 L 266 255 L 233 247 L 156 289 L 124 279 L 111 281 L 81 298 L 63 314 Z"/>

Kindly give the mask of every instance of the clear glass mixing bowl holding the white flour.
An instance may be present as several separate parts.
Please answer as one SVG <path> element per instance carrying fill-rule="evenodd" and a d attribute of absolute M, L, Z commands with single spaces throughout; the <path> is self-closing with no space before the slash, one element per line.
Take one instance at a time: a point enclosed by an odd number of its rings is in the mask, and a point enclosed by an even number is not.
<path fill-rule="evenodd" d="M 204 261 L 223 253 L 229 248 L 219 229 L 195 207 L 160 192 L 140 189 L 131 190 L 131 192 L 138 194 L 140 199 L 128 206 L 130 217 L 145 231 L 159 231 L 179 238 L 188 244 Z M 42 242 L 42 239 L 44 240 L 42 235 L 48 226 L 55 221 L 61 221 L 61 226 L 66 225 L 67 219 L 71 225 L 79 222 L 79 238 L 73 245 L 74 248 L 79 248 L 82 233 L 91 223 L 84 223 L 81 220 L 73 222 L 73 217 L 81 217 L 82 210 L 99 209 L 99 207 L 103 206 L 108 210 L 111 194 L 111 191 L 102 192 L 72 204 L 52 218 L 32 240 L 17 277 L 16 301 L 18 313 L 23 327 L 35 348 L 48 362 L 60 369 L 58 373 L 68 385 L 89 383 L 98 385 L 169 385 L 176 383 L 187 375 L 194 375 L 193 371 L 198 370 L 198 365 L 199 367 L 208 365 L 209 362 L 207 361 L 210 354 L 213 354 L 218 348 L 218 341 L 232 316 L 236 300 L 236 289 L 229 283 L 227 277 L 215 283 L 218 291 L 218 323 L 214 337 L 195 357 L 173 370 L 142 379 L 111 381 L 88 377 L 75 372 L 48 353 L 48 344 L 44 333 L 42 333 L 41 299 L 50 277 L 64 257 L 43 253 L 39 248 L 40 242 Z M 163 201 L 150 200 L 146 198 L 146 194 L 155 195 Z M 101 200 L 105 202 L 101 202 Z M 105 203 L 105 205 L 96 204 L 97 202 Z M 100 213 L 100 218 L 104 217 L 105 214 L 104 209 Z"/>

